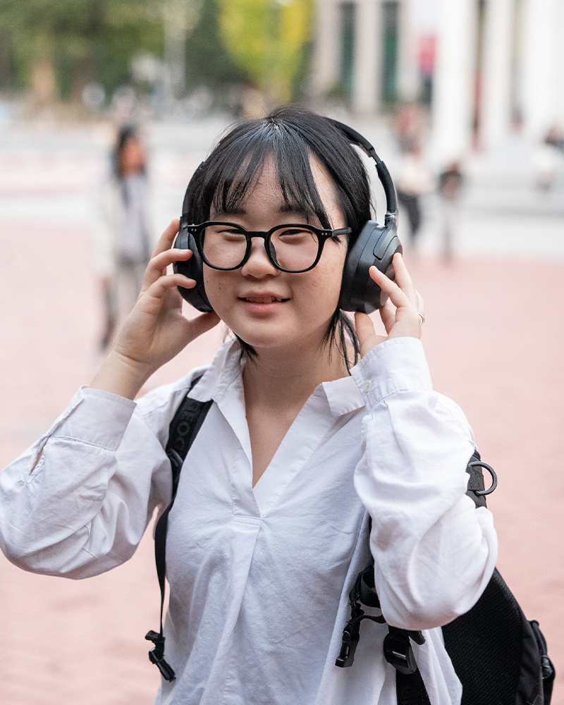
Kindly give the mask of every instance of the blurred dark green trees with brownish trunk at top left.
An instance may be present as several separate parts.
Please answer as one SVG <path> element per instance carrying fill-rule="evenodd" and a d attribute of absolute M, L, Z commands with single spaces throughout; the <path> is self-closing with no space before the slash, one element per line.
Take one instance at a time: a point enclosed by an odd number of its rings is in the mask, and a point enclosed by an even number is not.
<path fill-rule="evenodd" d="M 0 0 L 0 30 L 16 85 L 38 102 L 78 98 L 94 78 L 106 90 L 126 80 L 137 51 L 162 52 L 161 0 Z"/>

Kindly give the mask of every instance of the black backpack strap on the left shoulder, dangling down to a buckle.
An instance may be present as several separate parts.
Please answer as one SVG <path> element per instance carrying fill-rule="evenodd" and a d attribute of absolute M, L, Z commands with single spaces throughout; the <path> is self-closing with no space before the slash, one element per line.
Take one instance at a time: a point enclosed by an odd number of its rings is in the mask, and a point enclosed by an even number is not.
<path fill-rule="evenodd" d="M 200 377 L 195 379 L 191 386 L 192 388 L 200 381 Z M 168 443 L 166 443 L 166 455 L 171 461 L 172 468 L 172 498 L 171 502 L 159 517 L 157 526 L 154 529 L 154 560 L 157 564 L 157 577 L 159 578 L 159 587 L 161 589 L 161 630 L 155 632 L 149 630 L 145 639 L 153 642 L 154 649 L 149 651 L 149 661 L 154 663 L 159 668 L 162 677 L 165 680 L 174 680 L 174 670 L 164 659 L 164 634 L 163 634 L 163 609 L 164 609 L 164 579 L 166 576 L 166 529 L 168 527 L 168 515 L 171 512 L 174 499 L 176 498 L 176 490 L 178 489 L 178 481 L 180 479 L 180 470 L 182 470 L 183 462 L 190 450 L 190 446 L 194 442 L 200 427 L 204 423 L 204 419 L 212 406 L 212 400 L 202 402 L 185 396 L 171 421 L 168 429 Z"/>

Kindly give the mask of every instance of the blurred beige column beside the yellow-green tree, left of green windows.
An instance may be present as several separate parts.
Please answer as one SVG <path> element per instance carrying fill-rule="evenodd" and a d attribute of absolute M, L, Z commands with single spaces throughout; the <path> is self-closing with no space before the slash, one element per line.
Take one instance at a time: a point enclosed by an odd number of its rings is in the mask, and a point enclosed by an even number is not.
<path fill-rule="evenodd" d="M 338 4 L 318 0 L 312 60 L 312 88 L 321 95 L 338 82 L 341 34 L 338 27 Z"/>

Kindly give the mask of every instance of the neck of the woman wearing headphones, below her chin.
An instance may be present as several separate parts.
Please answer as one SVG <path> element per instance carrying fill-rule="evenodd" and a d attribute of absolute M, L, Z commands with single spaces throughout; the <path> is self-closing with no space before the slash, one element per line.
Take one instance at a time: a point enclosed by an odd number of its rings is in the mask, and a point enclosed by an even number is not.
<path fill-rule="evenodd" d="M 348 376 L 338 348 L 258 350 L 243 371 L 245 403 L 298 410 L 321 382 Z"/>

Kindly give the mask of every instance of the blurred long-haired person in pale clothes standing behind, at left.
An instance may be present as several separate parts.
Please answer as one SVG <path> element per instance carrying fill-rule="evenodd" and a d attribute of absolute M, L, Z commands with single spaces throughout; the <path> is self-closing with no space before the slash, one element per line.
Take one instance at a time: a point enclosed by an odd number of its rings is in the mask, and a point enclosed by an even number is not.
<path fill-rule="evenodd" d="M 104 330 L 110 345 L 119 319 L 135 305 L 152 250 L 149 182 L 139 130 L 122 125 L 112 152 L 111 176 L 100 192 L 94 261 L 102 283 Z"/>

